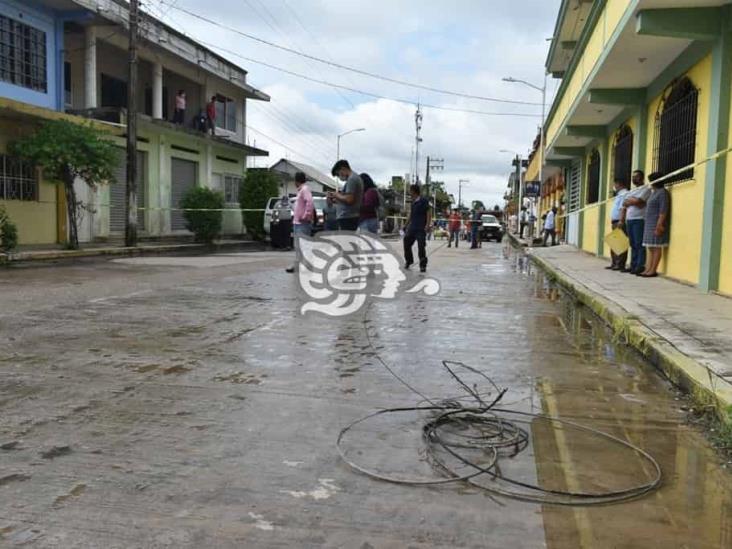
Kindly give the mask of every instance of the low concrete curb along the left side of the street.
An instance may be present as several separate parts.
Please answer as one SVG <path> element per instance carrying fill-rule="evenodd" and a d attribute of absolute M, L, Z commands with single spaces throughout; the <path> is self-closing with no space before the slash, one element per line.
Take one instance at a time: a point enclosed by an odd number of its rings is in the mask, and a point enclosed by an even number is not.
<path fill-rule="evenodd" d="M 261 246 L 255 241 L 219 242 L 208 244 L 161 244 L 136 247 L 104 247 L 86 248 L 81 250 L 38 250 L 0 254 L 0 266 L 12 263 L 59 261 L 66 259 L 81 259 L 90 257 L 135 257 L 142 255 L 166 254 L 175 252 L 221 252 L 241 249 L 250 249 Z"/>

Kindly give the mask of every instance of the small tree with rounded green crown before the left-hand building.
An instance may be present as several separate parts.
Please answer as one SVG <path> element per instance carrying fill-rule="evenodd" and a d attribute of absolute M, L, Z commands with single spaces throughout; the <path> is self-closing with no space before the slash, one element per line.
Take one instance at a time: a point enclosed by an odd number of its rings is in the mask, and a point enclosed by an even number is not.
<path fill-rule="evenodd" d="M 68 245 L 77 249 L 79 215 L 86 205 L 77 199 L 74 181 L 81 179 L 91 188 L 113 181 L 114 169 L 121 161 L 119 149 L 91 123 L 50 120 L 36 132 L 11 143 L 10 152 L 41 168 L 47 180 L 64 186 Z"/>

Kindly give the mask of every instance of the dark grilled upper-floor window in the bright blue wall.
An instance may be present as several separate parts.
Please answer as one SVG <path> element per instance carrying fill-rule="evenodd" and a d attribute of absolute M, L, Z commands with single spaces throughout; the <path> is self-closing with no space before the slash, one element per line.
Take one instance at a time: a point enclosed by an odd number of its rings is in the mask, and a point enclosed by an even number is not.
<path fill-rule="evenodd" d="M 0 80 L 46 93 L 46 33 L 0 15 Z"/>

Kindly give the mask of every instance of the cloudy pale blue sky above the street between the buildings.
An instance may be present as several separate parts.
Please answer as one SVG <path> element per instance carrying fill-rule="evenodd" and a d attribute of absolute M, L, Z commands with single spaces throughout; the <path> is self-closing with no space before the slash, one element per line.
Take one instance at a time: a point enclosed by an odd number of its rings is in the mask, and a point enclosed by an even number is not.
<path fill-rule="evenodd" d="M 280 158 L 325 173 L 341 157 L 378 184 L 414 173 L 418 102 L 477 114 L 422 111 L 420 179 L 426 157 L 444 160 L 433 174 L 464 203 L 503 204 L 514 153 L 526 155 L 541 123 L 541 93 L 502 81 L 541 86 L 560 0 L 142 0 L 174 28 L 205 42 L 248 71 L 247 82 L 271 97 L 247 101 L 247 140 L 269 151 L 250 166 Z M 463 94 L 533 104 L 467 99 L 387 82 L 321 64 L 202 21 L 205 16 L 264 40 L 359 70 Z M 249 58 L 242 59 L 241 56 Z M 283 73 L 336 83 L 409 104 L 334 89 Z M 547 101 L 558 81 L 549 77 Z M 515 116 L 521 114 L 523 116 Z M 512 151 L 500 152 L 501 149 Z"/>

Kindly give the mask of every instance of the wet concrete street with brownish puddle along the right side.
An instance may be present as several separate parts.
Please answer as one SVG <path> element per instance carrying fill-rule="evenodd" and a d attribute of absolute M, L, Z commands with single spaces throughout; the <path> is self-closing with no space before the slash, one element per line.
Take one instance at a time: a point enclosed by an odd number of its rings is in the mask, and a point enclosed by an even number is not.
<path fill-rule="evenodd" d="M 440 295 L 347 320 L 298 316 L 291 257 L 276 252 L 0 271 L 0 546 L 732 547 L 732 476 L 675 390 L 503 245 L 438 246 Z M 479 368 L 509 389 L 504 407 L 643 448 L 662 485 L 568 508 L 360 474 L 338 455 L 340 429 L 420 401 L 379 357 L 430 398 L 460 394 L 441 360 Z M 416 419 L 363 427 L 349 455 L 439 477 Z M 576 491 L 650 474 L 593 437 L 530 432 L 504 462 L 526 482 Z"/>

